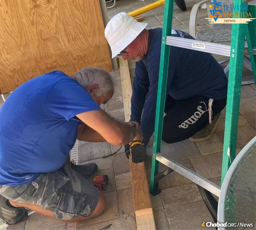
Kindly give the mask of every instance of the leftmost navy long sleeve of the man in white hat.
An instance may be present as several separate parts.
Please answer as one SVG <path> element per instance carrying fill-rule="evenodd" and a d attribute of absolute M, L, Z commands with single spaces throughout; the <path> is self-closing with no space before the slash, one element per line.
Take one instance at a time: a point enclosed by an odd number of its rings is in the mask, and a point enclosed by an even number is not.
<path fill-rule="evenodd" d="M 141 114 L 146 100 L 146 94 L 148 93 L 148 87 L 148 71 L 142 61 L 136 62 L 131 98 L 130 121 L 141 123 Z"/>

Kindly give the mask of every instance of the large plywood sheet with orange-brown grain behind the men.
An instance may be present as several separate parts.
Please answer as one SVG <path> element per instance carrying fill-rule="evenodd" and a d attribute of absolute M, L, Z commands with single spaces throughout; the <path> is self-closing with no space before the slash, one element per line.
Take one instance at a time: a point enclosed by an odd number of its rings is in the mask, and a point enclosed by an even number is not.
<path fill-rule="evenodd" d="M 0 0 L 0 92 L 88 66 L 111 70 L 98 0 Z"/>

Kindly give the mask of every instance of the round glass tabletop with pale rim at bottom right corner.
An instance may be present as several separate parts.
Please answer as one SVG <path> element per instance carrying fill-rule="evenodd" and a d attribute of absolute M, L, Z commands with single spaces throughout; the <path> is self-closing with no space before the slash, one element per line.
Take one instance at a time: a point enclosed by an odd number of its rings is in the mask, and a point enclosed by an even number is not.
<path fill-rule="evenodd" d="M 254 138 L 256 140 L 256 138 Z M 232 166 L 232 164 L 234 165 Z M 256 227 L 256 143 L 251 141 L 237 155 L 222 184 L 218 221 L 229 224 L 226 229 Z M 225 191 L 223 191 L 225 190 Z"/>

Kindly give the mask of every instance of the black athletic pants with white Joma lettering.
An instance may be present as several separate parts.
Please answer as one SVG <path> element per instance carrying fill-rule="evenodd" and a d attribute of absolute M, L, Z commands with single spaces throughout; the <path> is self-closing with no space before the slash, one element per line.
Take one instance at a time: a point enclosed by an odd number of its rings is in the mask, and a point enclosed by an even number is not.
<path fill-rule="evenodd" d="M 214 100 L 212 117 L 218 114 L 226 105 L 226 98 Z M 209 98 L 195 96 L 186 100 L 175 100 L 168 96 L 166 105 L 163 136 L 164 142 L 170 144 L 183 141 L 209 124 Z"/>

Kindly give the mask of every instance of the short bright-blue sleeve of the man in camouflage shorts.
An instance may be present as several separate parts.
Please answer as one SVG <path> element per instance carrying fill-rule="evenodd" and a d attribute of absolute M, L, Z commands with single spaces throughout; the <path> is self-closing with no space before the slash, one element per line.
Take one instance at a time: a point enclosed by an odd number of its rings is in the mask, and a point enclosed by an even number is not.
<path fill-rule="evenodd" d="M 79 113 L 101 110 L 90 94 L 71 78 L 62 79 L 52 86 L 45 106 L 49 114 L 64 117 L 66 120 Z"/>

